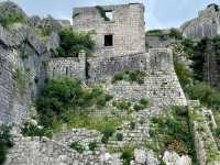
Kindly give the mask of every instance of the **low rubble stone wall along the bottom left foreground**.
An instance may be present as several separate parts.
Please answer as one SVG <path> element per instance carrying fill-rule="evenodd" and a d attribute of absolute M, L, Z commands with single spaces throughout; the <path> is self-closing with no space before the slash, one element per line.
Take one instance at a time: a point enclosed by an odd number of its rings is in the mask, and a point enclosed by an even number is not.
<path fill-rule="evenodd" d="M 99 154 L 84 152 L 79 154 L 56 141 L 43 138 L 14 138 L 14 146 L 7 155 L 4 165 L 100 165 L 105 164 Z M 103 157 L 103 156 L 102 156 Z M 117 157 L 106 164 L 122 165 Z"/>

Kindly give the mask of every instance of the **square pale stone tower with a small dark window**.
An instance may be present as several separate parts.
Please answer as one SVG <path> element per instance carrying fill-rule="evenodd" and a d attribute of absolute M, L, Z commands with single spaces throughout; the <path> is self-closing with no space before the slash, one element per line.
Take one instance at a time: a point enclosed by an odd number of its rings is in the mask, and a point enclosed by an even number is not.
<path fill-rule="evenodd" d="M 145 52 L 144 7 L 141 3 L 103 6 L 113 19 L 106 21 L 96 7 L 75 8 L 73 28 L 96 31 L 95 56 L 121 56 Z M 105 35 L 113 35 L 113 46 L 105 46 Z"/>

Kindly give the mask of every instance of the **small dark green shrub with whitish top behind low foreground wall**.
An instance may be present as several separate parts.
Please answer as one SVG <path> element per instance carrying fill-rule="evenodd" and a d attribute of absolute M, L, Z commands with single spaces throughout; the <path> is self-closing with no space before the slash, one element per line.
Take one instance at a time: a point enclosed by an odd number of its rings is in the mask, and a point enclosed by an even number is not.
<path fill-rule="evenodd" d="M 35 120 L 28 121 L 21 128 L 21 133 L 24 136 L 53 136 L 53 131 L 51 129 L 46 129 L 44 127 L 37 125 Z"/>

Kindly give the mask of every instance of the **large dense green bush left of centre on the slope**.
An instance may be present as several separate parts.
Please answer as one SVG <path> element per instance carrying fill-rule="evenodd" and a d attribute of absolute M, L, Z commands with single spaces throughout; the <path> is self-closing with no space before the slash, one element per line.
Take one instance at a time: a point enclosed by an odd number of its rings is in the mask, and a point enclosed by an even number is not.
<path fill-rule="evenodd" d="M 102 108 L 111 98 L 100 87 L 82 88 L 77 79 L 56 77 L 46 84 L 36 101 L 40 124 L 52 129 L 57 128 L 58 123 L 89 127 L 89 122 L 94 120 L 85 121 L 90 120 L 87 116 L 81 120 L 82 114 L 76 113 L 82 113 L 85 109 Z"/>

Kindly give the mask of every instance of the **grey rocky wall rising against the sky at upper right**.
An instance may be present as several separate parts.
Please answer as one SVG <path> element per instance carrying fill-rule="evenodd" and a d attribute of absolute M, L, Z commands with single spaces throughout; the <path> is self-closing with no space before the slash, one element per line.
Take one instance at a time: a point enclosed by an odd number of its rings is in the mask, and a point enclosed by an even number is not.
<path fill-rule="evenodd" d="M 198 18 L 182 25 L 184 36 L 201 38 L 220 34 L 220 10 L 218 6 L 209 6 L 199 12 Z"/>

